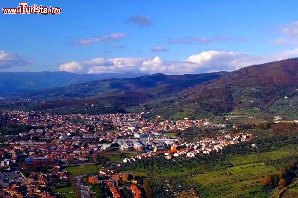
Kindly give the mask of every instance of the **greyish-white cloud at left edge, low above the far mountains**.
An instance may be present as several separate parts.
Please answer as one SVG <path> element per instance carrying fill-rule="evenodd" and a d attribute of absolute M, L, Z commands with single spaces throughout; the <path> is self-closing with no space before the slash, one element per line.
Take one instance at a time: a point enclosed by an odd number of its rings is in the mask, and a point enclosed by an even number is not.
<path fill-rule="evenodd" d="M 23 55 L 0 50 L 0 69 L 31 65 L 32 60 L 27 60 Z"/>

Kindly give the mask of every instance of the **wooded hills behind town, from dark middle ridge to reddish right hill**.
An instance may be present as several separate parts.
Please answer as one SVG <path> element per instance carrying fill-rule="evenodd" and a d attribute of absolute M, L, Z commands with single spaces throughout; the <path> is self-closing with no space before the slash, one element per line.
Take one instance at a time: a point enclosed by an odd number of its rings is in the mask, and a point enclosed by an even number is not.
<path fill-rule="evenodd" d="M 298 58 L 252 65 L 234 72 L 154 74 L 71 85 L 69 82 L 73 80 L 65 82 L 66 86 L 23 92 L 18 96 L 43 101 L 27 109 L 55 109 L 55 113 L 152 110 L 151 116 L 181 118 L 224 115 L 246 108 L 249 112 L 256 110 L 256 113 L 294 119 L 298 116 Z"/>

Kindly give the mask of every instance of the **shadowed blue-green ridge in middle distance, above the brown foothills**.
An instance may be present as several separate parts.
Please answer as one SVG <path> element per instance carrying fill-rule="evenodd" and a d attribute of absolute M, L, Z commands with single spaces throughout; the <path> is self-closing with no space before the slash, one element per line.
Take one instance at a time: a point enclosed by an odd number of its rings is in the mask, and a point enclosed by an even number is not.
<path fill-rule="evenodd" d="M 55 87 L 24 94 L 30 98 L 57 99 L 64 98 L 105 97 L 108 95 L 123 95 L 124 92 L 139 92 L 150 97 L 160 97 L 199 83 L 218 78 L 228 72 L 215 72 L 207 74 L 164 75 L 153 74 L 136 78 L 105 79 L 89 81 L 86 83 L 72 84 Z"/>

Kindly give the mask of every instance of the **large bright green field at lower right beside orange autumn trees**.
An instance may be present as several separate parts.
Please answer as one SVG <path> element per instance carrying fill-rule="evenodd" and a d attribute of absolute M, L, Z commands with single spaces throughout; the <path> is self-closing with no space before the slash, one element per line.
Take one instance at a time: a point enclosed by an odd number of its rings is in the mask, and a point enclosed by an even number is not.
<path fill-rule="evenodd" d="M 269 197 L 262 192 L 263 180 L 267 174 L 277 170 L 263 163 L 253 163 L 193 176 L 192 181 L 201 198 Z"/>

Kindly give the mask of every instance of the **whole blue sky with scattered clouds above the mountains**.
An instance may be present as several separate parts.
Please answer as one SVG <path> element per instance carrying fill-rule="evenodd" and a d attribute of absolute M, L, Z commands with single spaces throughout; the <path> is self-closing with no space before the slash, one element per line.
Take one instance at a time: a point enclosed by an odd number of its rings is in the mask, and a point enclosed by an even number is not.
<path fill-rule="evenodd" d="M 17 7 L 19 1 L 1 1 Z M 0 14 L 0 71 L 201 73 L 298 56 L 297 1 L 28 1 Z M 93 60 L 93 61 L 92 61 Z"/>

